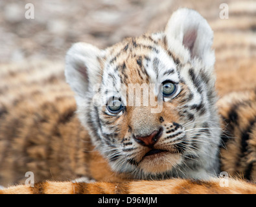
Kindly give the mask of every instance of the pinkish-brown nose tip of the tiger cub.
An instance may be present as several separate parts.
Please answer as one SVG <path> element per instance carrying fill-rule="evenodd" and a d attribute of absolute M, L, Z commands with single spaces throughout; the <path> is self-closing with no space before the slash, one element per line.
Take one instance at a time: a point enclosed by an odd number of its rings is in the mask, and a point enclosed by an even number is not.
<path fill-rule="evenodd" d="M 160 128 L 159 131 L 153 131 L 150 135 L 147 136 L 134 136 L 134 139 L 142 146 L 153 147 L 154 144 L 156 144 L 156 142 L 159 140 L 162 133 L 163 129 Z"/>

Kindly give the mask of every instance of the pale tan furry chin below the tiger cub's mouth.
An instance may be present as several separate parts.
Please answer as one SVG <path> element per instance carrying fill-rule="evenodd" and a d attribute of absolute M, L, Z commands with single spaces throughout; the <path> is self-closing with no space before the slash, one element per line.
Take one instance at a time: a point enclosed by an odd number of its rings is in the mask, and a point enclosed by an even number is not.
<path fill-rule="evenodd" d="M 145 175 L 157 175 L 172 170 L 180 163 L 180 154 L 163 152 L 144 157 L 138 167 L 145 173 Z"/>

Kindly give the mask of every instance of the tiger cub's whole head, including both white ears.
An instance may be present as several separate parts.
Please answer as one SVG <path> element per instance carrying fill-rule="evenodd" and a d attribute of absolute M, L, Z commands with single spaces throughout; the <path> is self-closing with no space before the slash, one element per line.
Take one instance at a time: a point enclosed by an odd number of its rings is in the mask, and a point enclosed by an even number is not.
<path fill-rule="evenodd" d="M 137 178 L 216 173 L 212 39 L 202 16 L 180 9 L 165 32 L 106 50 L 76 43 L 67 52 L 80 121 L 114 171 Z"/>

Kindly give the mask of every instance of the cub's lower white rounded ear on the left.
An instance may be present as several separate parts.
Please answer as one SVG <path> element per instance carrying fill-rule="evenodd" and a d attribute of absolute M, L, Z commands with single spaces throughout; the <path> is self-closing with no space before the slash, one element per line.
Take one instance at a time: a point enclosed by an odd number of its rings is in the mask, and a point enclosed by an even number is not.
<path fill-rule="evenodd" d="M 75 43 L 65 57 L 65 78 L 79 98 L 100 82 L 101 50 L 87 43 Z"/>

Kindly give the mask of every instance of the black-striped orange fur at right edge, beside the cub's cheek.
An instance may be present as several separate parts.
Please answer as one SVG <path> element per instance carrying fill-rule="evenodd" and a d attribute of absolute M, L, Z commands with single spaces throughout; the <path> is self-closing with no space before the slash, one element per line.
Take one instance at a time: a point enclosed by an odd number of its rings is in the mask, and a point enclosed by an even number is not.
<path fill-rule="evenodd" d="M 256 90 L 227 94 L 219 100 L 218 109 L 225 129 L 222 171 L 256 182 Z"/>

